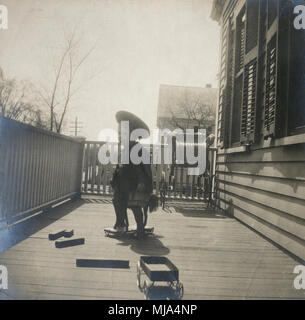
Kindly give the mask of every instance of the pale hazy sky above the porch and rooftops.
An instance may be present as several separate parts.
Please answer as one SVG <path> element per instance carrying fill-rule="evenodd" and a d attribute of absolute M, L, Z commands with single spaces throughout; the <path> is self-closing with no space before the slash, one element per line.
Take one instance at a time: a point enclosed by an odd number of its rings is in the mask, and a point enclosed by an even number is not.
<path fill-rule="evenodd" d="M 2 0 L 9 28 L 0 31 L 0 67 L 6 77 L 46 86 L 64 30 L 76 27 L 80 51 L 96 44 L 77 79 L 69 123 L 96 140 L 116 127 L 115 113 L 136 113 L 156 127 L 160 84 L 218 85 L 219 26 L 212 0 Z M 91 75 L 94 75 L 91 78 Z M 88 80 L 91 78 L 90 80 Z M 65 131 L 65 132 L 68 132 Z"/>

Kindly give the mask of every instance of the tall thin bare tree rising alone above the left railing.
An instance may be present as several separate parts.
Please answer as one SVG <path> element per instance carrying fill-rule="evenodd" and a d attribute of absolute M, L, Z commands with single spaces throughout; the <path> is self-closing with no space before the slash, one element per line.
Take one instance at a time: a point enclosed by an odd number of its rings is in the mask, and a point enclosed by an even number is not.
<path fill-rule="evenodd" d="M 75 79 L 94 48 L 95 46 L 92 46 L 81 55 L 80 39 L 76 39 L 75 31 L 66 37 L 63 51 L 54 66 L 53 83 L 48 89 L 43 88 L 38 92 L 49 108 L 51 131 L 61 132 L 71 99 L 81 87 L 75 87 Z"/>

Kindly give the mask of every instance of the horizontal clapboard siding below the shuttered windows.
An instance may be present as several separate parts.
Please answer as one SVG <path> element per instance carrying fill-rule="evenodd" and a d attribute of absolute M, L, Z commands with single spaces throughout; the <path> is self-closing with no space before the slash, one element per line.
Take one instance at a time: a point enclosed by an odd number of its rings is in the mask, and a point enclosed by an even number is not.
<path fill-rule="evenodd" d="M 219 154 L 217 200 L 256 231 L 305 260 L 305 146 Z"/>

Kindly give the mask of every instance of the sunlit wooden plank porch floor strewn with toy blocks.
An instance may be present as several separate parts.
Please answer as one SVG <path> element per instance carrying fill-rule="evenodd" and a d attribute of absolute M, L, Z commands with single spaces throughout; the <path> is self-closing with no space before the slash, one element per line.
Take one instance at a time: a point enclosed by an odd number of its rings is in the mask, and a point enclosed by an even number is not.
<path fill-rule="evenodd" d="M 183 299 L 305 298 L 293 288 L 297 261 L 235 219 L 202 207 L 177 202 L 171 213 L 150 214 L 155 235 L 143 242 L 104 236 L 114 221 L 109 200 L 77 200 L 37 216 L 23 230 L 25 239 L 0 254 L 9 286 L 0 299 L 143 299 L 136 285 L 141 255 L 166 256 L 179 268 Z M 48 234 L 61 229 L 74 229 L 85 244 L 55 248 Z M 78 268 L 76 259 L 129 260 L 130 269 Z"/>

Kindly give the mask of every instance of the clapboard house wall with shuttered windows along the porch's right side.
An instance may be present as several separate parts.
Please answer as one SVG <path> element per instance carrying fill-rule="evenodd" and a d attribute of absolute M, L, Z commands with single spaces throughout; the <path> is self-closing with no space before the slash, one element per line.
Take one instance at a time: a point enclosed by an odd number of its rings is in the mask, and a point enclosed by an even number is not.
<path fill-rule="evenodd" d="M 216 200 L 305 260 L 305 34 L 299 0 L 214 0 L 221 27 Z"/>

